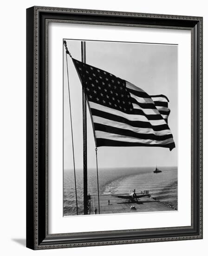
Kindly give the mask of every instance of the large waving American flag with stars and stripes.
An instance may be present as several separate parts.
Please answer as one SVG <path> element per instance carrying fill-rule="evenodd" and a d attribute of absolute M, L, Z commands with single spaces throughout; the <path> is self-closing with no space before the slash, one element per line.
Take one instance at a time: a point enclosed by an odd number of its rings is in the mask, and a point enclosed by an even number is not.
<path fill-rule="evenodd" d="M 100 68 L 72 61 L 87 95 L 97 147 L 175 148 L 166 96 L 150 96 Z"/>

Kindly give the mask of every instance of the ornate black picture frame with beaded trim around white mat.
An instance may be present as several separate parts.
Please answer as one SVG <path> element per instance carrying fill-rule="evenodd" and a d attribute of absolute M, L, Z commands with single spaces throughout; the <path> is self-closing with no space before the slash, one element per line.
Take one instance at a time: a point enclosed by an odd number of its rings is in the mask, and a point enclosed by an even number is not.
<path fill-rule="evenodd" d="M 48 25 L 50 22 L 190 31 L 190 226 L 87 232 L 71 232 L 69 227 L 67 233 L 49 233 Z M 55 249 L 202 239 L 202 17 L 31 7 L 26 10 L 26 23 L 26 247 Z"/>

